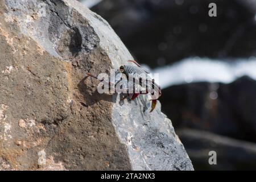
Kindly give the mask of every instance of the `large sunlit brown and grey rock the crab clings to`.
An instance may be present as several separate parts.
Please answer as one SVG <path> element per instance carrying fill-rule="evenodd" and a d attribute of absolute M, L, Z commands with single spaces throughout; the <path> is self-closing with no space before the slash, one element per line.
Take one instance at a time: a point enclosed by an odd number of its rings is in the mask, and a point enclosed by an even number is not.
<path fill-rule="evenodd" d="M 193 169 L 160 104 L 85 79 L 133 59 L 104 19 L 72 0 L 1 0 L 0 14 L 0 169 Z"/>

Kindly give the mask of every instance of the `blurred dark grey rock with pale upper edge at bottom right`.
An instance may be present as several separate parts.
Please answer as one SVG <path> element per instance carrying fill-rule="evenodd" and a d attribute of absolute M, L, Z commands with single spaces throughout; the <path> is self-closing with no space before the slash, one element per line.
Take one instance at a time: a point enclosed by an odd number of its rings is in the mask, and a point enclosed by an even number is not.
<path fill-rule="evenodd" d="M 177 131 L 197 170 L 256 169 L 256 144 L 201 130 Z M 210 165 L 210 151 L 216 151 L 217 164 Z"/>

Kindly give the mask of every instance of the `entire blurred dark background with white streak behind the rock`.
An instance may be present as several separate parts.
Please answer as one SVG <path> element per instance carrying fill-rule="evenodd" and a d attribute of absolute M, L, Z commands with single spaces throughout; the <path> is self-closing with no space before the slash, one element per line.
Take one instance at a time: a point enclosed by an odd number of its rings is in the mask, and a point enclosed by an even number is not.
<path fill-rule="evenodd" d="M 162 111 L 196 170 L 256 170 L 256 0 L 81 2 L 160 73 Z"/>

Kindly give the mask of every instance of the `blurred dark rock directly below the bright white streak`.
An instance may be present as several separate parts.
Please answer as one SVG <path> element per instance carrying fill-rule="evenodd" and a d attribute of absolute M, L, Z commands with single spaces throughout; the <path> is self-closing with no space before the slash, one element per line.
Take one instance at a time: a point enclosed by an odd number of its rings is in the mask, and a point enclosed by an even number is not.
<path fill-rule="evenodd" d="M 231 84 L 197 82 L 163 90 L 162 110 L 175 127 L 207 130 L 256 142 L 256 81 L 242 77 Z"/>

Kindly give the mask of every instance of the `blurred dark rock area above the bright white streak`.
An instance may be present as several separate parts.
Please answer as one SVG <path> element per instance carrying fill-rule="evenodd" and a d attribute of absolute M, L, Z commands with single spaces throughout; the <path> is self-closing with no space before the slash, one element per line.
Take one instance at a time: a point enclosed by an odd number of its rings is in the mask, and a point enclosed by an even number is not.
<path fill-rule="evenodd" d="M 217 17 L 208 16 L 209 3 Z M 152 68 L 189 56 L 256 55 L 254 0 L 104 0 L 92 10 Z"/>

